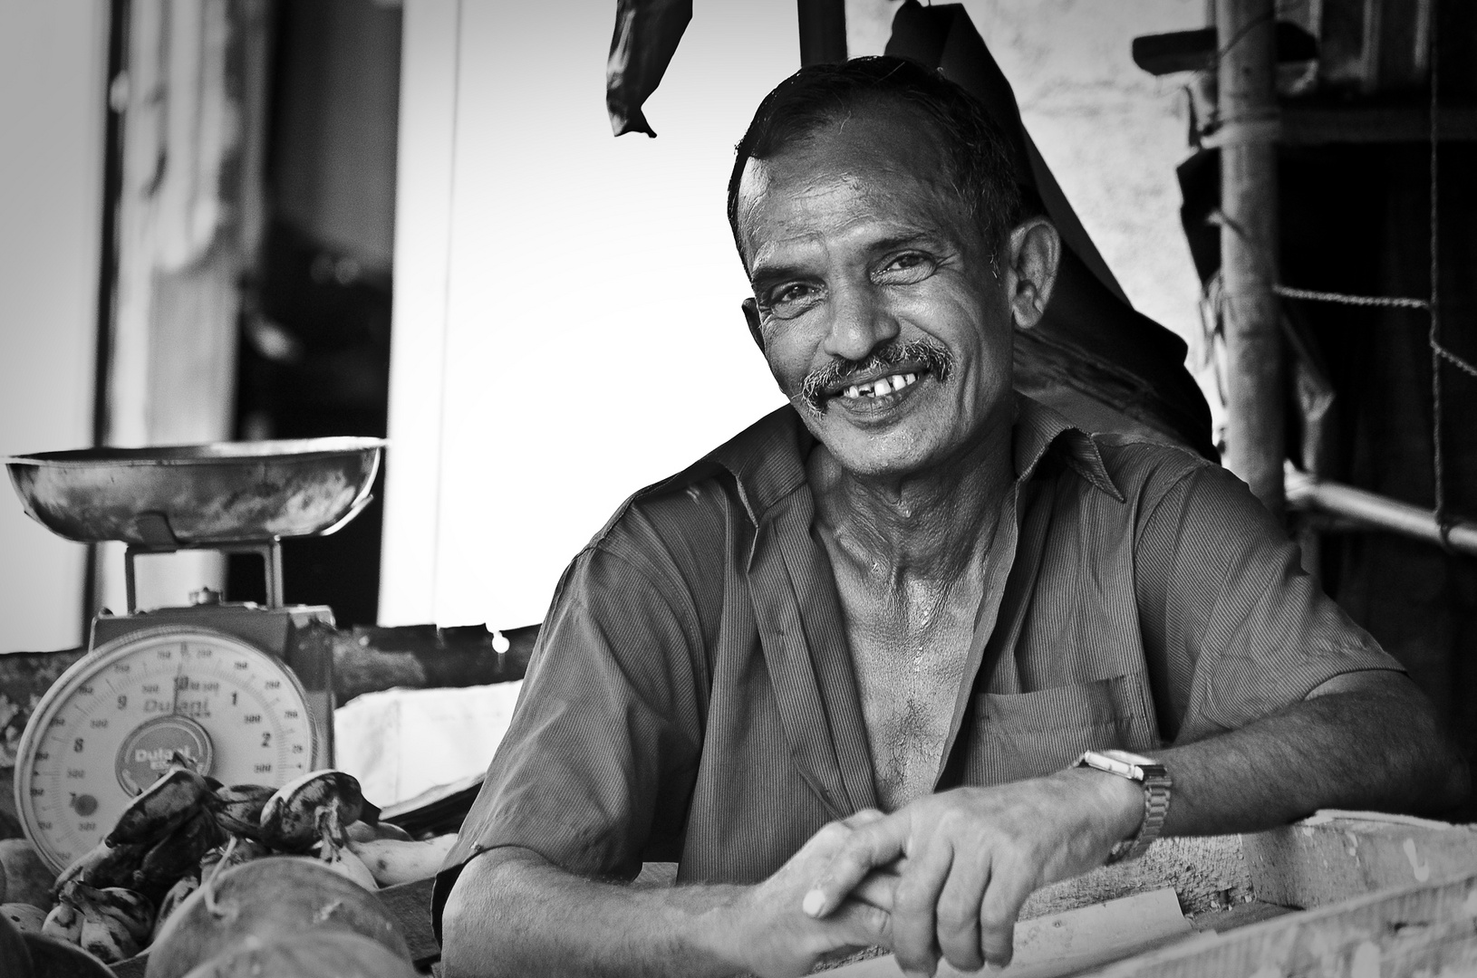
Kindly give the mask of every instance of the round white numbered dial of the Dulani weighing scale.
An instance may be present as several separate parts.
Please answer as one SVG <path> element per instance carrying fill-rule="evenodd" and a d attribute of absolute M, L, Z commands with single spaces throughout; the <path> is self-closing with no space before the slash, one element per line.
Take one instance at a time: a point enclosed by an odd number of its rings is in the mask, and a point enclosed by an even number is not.
<path fill-rule="evenodd" d="M 316 730 L 279 659 L 210 628 L 160 625 L 86 655 L 46 692 L 16 755 L 16 808 L 58 870 L 97 845 L 174 751 L 226 785 L 313 770 Z"/>

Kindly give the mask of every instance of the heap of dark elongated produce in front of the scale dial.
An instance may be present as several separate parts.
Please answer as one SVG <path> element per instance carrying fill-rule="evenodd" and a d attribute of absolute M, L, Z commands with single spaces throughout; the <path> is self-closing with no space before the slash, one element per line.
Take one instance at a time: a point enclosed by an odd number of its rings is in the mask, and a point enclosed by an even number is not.
<path fill-rule="evenodd" d="M 455 836 L 414 841 L 378 820 L 337 770 L 266 785 L 222 785 L 167 770 L 112 832 L 58 876 L 41 932 L 103 962 L 137 954 L 201 881 L 263 856 L 316 856 L 366 889 L 433 876 Z"/>

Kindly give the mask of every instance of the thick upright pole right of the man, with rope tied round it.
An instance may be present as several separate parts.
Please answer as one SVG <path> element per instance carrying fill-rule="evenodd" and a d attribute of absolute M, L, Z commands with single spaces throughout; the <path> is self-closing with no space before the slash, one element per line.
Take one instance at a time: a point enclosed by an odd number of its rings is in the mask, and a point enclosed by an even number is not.
<path fill-rule="evenodd" d="M 1226 466 L 1284 512 L 1273 0 L 1216 0 Z"/>

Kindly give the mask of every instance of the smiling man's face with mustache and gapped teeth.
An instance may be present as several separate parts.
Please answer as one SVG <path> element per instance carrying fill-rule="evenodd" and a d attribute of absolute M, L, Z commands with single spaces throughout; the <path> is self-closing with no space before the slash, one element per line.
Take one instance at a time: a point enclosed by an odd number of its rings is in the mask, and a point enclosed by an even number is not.
<path fill-rule="evenodd" d="M 857 475 L 945 462 L 1009 406 L 1009 305 L 935 143 L 868 106 L 750 159 L 738 190 L 770 370 Z"/>

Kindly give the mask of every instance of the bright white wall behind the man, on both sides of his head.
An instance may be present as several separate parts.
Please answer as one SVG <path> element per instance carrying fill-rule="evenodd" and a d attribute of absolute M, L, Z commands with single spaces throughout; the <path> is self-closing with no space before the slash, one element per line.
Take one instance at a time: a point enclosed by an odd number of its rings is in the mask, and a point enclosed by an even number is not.
<path fill-rule="evenodd" d="M 854 55 L 899 0 L 848 0 Z M 610 0 L 406 0 L 381 618 L 538 621 L 628 493 L 778 404 L 737 302 L 733 145 L 799 66 L 792 0 L 694 4 L 648 118 L 610 137 Z M 1139 34 L 1204 0 L 969 0 L 1137 308 L 1198 332 L 1180 80 Z"/>

